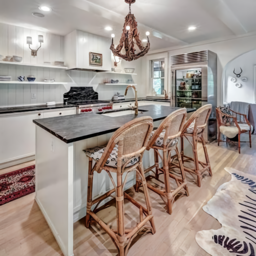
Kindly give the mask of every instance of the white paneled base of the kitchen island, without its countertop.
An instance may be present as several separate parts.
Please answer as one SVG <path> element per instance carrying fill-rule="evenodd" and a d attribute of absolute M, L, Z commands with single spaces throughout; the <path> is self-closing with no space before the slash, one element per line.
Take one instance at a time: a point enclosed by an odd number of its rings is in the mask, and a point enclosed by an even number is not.
<path fill-rule="evenodd" d="M 154 126 L 158 127 L 160 122 L 155 122 Z M 65 256 L 74 255 L 73 222 L 86 216 L 89 158 L 83 150 L 106 144 L 112 135 L 67 144 L 36 126 L 36 202 Z M 144 168 L 153 164 L 153 150 L 146 151 Z M 116 181 L 115 174 L 112 175 Z M 135 182 L 136 174 L 132 172 L 125 190 Z M 112 188 L 113 184 L 104 170 L 100 174 L 94 173 L 93 199 Z"/>

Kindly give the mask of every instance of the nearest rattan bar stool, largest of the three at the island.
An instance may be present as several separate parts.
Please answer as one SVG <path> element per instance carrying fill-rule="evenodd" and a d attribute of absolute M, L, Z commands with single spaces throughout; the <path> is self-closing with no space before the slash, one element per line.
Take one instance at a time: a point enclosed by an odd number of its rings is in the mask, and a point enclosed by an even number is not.
<path fill-rule="evenodd" d="M 146 180 L 142 165 L 143 153 L 146 150 L 148 141 L 153 130 L 153 119 L 151 117 L 136 118 L 120 127 L 110 139 L 106 147 L 95 147 L 84 150 L 89 156 L 89 174 L 88 174 L 88 201 L 87 201 L 87 216 L 86 227 L 89 228 L 92 221 L 96 221 L 114 242 L 119 251 L 120 256 L 127 254 L 132 240 L 137 233 L 146 229 L 146 232 L 156 232 L 154 219 L 152 215 L 151 201 L 148 194 Z M 93 160 L 96 163 L 93 166 Z M 101 173 L 104 169 L 114 185 L 114 189 L 108 193 L 92 200 L 93 190 L 93 173 Z M 146 207 L 139 204 L 132 197 L 124 192 L 124 185 L 126 183 L 128 173 L 136 171 L 142 180 L 142 185 L 145 194 Z M 111 175 L 117 174 L 117 184 Z M 122 180 L 122 176 L 126 173 L 126 177 Z M 116 193 L 115 196 L 111 194 Z M 102 220 L 98 218 L 96 213 L 99 211 L 99 204 L 109 196 L 116 199 L 117 211 L 117 230 L 113 230 Z M 139 208 L 140 222 L 132 229 L 125 229 L 124 227 L 124 198 L 129 200 Z M 96 207 L 92 210 L 92 206 Z M 102 207 L 101 207 L 102 208 Z M 145 216 L 145 218 L 144 218 Z M 150 221 L 150 225 L 146 223 Z"/>

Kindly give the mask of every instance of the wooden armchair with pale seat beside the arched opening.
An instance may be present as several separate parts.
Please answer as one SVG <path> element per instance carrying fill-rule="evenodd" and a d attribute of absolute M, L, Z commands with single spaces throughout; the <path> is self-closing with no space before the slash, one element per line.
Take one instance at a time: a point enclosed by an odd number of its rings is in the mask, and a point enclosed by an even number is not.
<path fill-rule="evenodd" d="M 218 146 L 220 142 L 228 142 L 238 135 L 238 150 L 240 154 L 240 143 L 249 142 L 251 147 L 251 124 L 245 114 L 234 112 L 227 108 L 216 108 L 217 122 L 219 127 Z M 249 132 L 249 141 L 240 141 L 242 133 Z M 221 140 L 221 133 L 226 136 L 226 140 Z"/>

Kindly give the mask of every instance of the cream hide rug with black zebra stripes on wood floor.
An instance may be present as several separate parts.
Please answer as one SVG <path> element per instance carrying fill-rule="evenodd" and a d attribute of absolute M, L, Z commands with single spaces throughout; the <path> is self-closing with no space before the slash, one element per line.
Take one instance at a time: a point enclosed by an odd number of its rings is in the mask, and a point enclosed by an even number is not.
<path fill-rule="evenodd" d="M 200 247 L 212 256 L 256 255 L 256 176 L 225 168 L 231 181 L 224 183 L 203 207 L 222 227 L 196 234 Z"/>

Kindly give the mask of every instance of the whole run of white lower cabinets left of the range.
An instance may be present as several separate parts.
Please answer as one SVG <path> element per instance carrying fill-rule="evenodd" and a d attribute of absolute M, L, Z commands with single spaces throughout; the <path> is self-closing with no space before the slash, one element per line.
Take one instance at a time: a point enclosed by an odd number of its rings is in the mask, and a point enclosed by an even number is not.
<path fill-rule="evenodd" d="M 34 159 L 34 119 L 74 114 L 76 108 L 0 115 L 0 169 Z"/>

